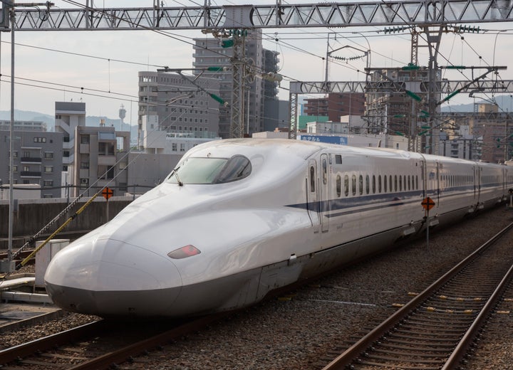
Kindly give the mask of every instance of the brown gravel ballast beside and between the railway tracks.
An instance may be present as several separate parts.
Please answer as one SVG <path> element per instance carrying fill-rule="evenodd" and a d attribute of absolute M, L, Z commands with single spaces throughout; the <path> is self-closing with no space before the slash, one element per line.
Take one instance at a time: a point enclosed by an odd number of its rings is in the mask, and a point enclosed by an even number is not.
<path fill-rule="evenodd" d="M 351 345 L 395 312 L 394 303 L 408 302 L 409 292 L 424 290 L 512 221 L 513 211 L 504 206 L 483 212 L 430 233 L 428 247 L 422 237 L 343 268 L 177 340 L 145 357 L 144 364 L 130 364 L 130 369 L 322 369 L 328 351 Z M 31 329 L 5 332 L 1 347 L 92 319 L 66 314 Z M 502 337 L 491 337 L 482 355 L 478 349 L 468 369 L 513 365 L 513 314 L 502 314 L 500 320 Z"/>

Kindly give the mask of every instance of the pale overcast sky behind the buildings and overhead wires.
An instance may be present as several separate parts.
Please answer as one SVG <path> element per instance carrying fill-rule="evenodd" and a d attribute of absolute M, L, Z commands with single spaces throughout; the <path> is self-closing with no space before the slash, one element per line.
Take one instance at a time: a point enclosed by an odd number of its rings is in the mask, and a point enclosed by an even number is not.
<path fill-rule="evenodd" d="M 165 1 L 165 6 L 197 6 L 204 0 Z M 86 4 L 86 0 L 76 1 Z M 344 1 L 341 1 L 344 2 Z M 351 1 L 353 2 L 353 1 Z M 363 2 L 363 1 L 362 1 Z M 69 1 L 54 1 L 56 7 L 73 7 Z M 94 1 L 96 7 L 148 7 L 148 0 Z M 234 4 L 213 1 L 212 5 Z M 238 4 L 247 4 L 239 2 Z M 273 1 L 252 1 L 273 4 Z M 283 4 L 312 4 L 312 1 L 284 1 Z M 513 23 L 482 23 L 480 33 L 445 33 L 440 45 L 439 65 L 482 67 L 505 65 L 498 78 L 513 80 Z M 510 29 L 511 28 L 511 29 Z M 410 33 L 385 34 L 384 27 L 281 28 L 264 29 L 264 48 L 280 53 L 279 73 L 284 75 L 279 96 L 289 98 L 289 81 L 322 81 L 326 73 L 326 51 L 333 56 L 353 58 L 329 63 L 329 79 L 363 81 L 371 50 L 372 68 L 402 67 L 410 62 Z M 11 106 L 11 33 L 1 33 L 0 110 Z M 54 114 L 56 101 L 86 102 L 87 115 L 118 118 L 123 105 L 125 123 L 137 123 L 138 71 L 192 68 L 192 38 L 206 37 L 199 31 L 16 31 L 14 47 L 14 106 Z M 212 37 L 212 36 L 208 36 Z M 462 39 L 463 37 L 463 39 Z M 277 41 L 276 41 L 277 40 Z M 420 44 L 423 44 L 422 38 Z M 338 51 L 334 51 L 338 49 Z M 419 48 L 419 64 L 428 63 L 427 48 Z M 483 73 L 475 70 L 474 77 Z M 472 79 L 472 72 L 442 71 L 449 80 Z M 80 88 L 84 88 L 80 93 Z M 317 95 L 318 96 L 318 95 Z M 493 96 L 479 95 L 484 100 Z M 307 95 L 306 97 L 316 97 Z M 482 100 L 482 99 L 481 99 Z M 450 104 L 479 102 L 480 98 L 457 95 Z"/>

